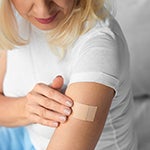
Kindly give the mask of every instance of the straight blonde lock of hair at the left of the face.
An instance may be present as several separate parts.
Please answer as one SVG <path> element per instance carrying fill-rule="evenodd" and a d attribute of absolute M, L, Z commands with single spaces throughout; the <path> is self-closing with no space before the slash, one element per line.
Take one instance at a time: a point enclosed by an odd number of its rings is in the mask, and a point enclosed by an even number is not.
<path fill-rule="evenodd" d="M 10 1 L 0 0 L 0 50 L 12 49 L 25 43 L 19 36 Z"/>

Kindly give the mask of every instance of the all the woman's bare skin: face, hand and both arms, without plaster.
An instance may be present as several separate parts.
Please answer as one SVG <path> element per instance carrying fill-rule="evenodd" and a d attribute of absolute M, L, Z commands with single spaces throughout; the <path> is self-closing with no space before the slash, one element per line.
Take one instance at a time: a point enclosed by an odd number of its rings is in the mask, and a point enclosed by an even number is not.
<path fill-rule="evenodd" d="M 12 0 L 12 2 L 25 19 L 39 29 L 50 30 L 55 28 L 71 12 L 74 0 L 51 0 L 49 2 L 44 0 Z M 47 5 L 48 3 L 49 5 Z M 57 17 L 49 24 L 41 24 L 35 19 L 35 17 L 48 18 L 57 11 L 59 11 Z M 79 82 L 69 85 L 63 95 L 59 92 L 63 79 L 58 77 L 54 79 L 51 86 L 38 83 L 25 97 L 5 97 L 2 88 L 6 70 L 5 64 L 6 54 L 1 54 L 0 111 L 4 113 L 0 114 L 0 125 L 20 126 L 39 123 L 57 127 L 47 150 L 60 150 L 60 148 L 61 150 L 93 150 L 95 148 L 115 94 L 112 88 L 94 82 Z M 71 99 L 97 106 L 95 120 L 93 122 L 82 121 L 69 114 L 70 116 L 65 123 L 60 121 L 60 118 L 68 116 L 65 115 L 64 110 L 71 110 L 66 103 L 66 100 L 72 102 Z M 4 109 L 5 106 L 7 106 L 7 112 Z M 53 111 L 48 111 L 48 109 Z M 63 124 L 58 126 L 60 122 Z"/>

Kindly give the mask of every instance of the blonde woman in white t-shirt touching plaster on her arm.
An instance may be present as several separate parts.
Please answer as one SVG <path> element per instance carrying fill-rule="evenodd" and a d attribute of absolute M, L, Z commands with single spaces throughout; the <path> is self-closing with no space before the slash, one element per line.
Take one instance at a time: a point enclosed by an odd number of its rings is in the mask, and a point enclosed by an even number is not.
<path fill-rule="evenodd" d="M 104 1 L 0 5 L 0 125 L 22 131 L 15 150 L 136 150 L 128 48 Z"/>

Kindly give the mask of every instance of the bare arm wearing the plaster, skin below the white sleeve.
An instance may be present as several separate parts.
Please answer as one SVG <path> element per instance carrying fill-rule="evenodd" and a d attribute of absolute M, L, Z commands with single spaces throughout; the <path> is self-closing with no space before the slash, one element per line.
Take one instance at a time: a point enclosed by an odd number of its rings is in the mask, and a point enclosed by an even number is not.
<path fill-rule="evenodd" d="M 48 150 L 93 150 L 102 133 L 114 90 L 97 83 L 71 84 L 66 95 L 74 101 L 98 106 L 94 122 L 72 117 L 58 127 L 49 143 Z"/>

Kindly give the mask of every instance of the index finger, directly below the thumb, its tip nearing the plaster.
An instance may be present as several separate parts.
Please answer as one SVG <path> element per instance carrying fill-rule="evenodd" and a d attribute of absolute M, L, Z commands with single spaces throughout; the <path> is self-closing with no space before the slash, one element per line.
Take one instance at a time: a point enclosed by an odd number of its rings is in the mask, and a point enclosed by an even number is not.
<path fill-rule="evenodd" d="M 40 93 L 45 97 L 53 99 L 54 101 L 65 106 L 72 107 L 73 105 L 73 101 L 69 97 L 43 83 L 37 84 L 34 88 L 34 92 Z"/>

